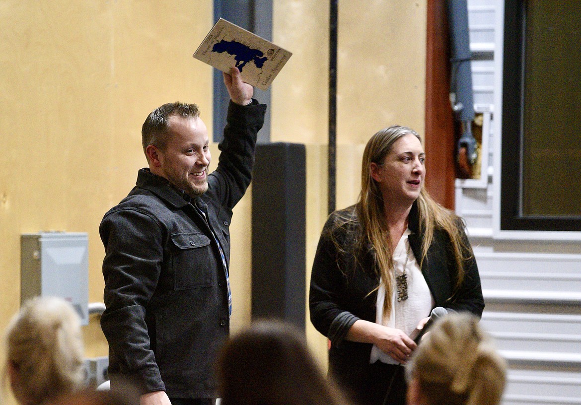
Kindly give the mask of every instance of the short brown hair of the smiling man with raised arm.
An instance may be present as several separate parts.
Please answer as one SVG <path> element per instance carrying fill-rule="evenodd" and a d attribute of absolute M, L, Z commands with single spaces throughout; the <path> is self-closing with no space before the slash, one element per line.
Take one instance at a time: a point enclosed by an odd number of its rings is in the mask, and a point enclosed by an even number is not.
<path fill-rule="evenodd" d="M 200 116 L 200 110 L 196 104 L 180 102 L 166 103 L 153 110 L 141 127 L 141 143 L 144 147 L 144 153 L 149 145 L 156 146 L 156 148 L 161 150 L 166 148 L 167 142 L 170 139 L 170 133 L 168 131 L 169 119 L 174 115 L 184 118 L 198 118 Z"/>

